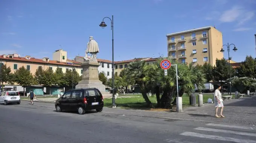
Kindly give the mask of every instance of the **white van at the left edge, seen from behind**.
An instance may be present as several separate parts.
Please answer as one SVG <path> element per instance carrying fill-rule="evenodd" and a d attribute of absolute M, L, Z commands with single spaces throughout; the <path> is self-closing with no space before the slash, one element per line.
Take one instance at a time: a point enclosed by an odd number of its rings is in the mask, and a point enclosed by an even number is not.
<path fill-rule="evenodd" d="M 4 91 L 0 94 L 0 103 L 4 105 L 9 103 L 20 104 L 20 94 L 18 91 Z"/>

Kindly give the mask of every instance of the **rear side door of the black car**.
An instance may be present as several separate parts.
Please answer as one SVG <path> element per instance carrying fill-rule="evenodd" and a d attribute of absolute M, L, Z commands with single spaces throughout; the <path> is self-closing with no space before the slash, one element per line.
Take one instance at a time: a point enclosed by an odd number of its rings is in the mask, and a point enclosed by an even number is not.
<path fill-rule="evenodd" d="M 79 103 L 82 103 L 81 98 L 82 90 L 74 90 L 72 92 L 71 98 L 69 99 L 70 102 L 70 110 L 76 111 L 78 109 Z"/>

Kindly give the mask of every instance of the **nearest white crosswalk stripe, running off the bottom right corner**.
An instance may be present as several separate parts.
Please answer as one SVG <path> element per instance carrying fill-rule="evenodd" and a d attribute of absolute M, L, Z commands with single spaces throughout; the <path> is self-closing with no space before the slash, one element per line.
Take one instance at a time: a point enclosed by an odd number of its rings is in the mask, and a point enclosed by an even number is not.
<path fill-rule="evenodd" d="M 222 140 L 222 141 L 233 141 L 236 143 L 256 143 L 255 140 L 243 140 L 238 138 L 232 138 L 232 137 L 220 137 L 216 135 L 206 135 L 206 134 L 199 134 L 195 132 L 183 132 L 180 135 L 186 135 L 190 137 L 200 137 L 200 138 L 207 138 L 212 140 Z"/>

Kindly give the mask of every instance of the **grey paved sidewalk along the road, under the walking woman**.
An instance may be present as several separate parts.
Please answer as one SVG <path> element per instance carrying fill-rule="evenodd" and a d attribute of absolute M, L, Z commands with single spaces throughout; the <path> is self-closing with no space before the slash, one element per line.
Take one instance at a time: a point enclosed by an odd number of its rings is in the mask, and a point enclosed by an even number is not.
<path fill-rule="evenodd" d="M 23 102 L 22 104 L 27 104 Z M 120 108 L 104 108 L 102 113 L 119 114 L 124 116 L 139 116 L 139 117 L 153 117 L 165 119 L 166 121 L 172 120 L 188 120 L 207 123 L 226 123 L 234 125 L 245 125 L 256 127 L 256 96 L 244 97 L 243 99 L 232 99 L 224 101 L 223 114 L 225 118 L 216 118 L 215 104 L 205 103 L 202 107 L 187 107 L 182 113 L 177 112 L 158 112 L 158 111 L 145 111 L 145 110 L 126 110 Z M 40 103 L 37 102 L 34 106 L 44 106 L 55 108 L 53 103 Z"/>

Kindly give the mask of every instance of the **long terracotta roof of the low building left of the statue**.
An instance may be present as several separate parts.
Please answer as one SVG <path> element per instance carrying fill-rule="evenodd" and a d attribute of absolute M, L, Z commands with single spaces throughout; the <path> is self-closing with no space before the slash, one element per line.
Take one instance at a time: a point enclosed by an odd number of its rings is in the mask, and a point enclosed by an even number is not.
<path fill-rule="evenodd" d="M 3 55 L 0 55 L 0 59 L 6 59 L 6 60 L 12 60 L 12 61 L 23 61 L 23 62 L 36 62 L 41 64 L 56 64 L 56 65 L 69 65 L 69 66 L 75 66 L 75 67 L 81 67 L 81 65 L 78 64 L 67 64 L 66 62 L 57 62 L 53 60 L 49 60 L 49 62 L 45 62 L 42 59 L 36 59 L 36 58 L 30 58 L 26 59 L 24 57 L 13 57 L 13 58 L 3 58 Z"/>

